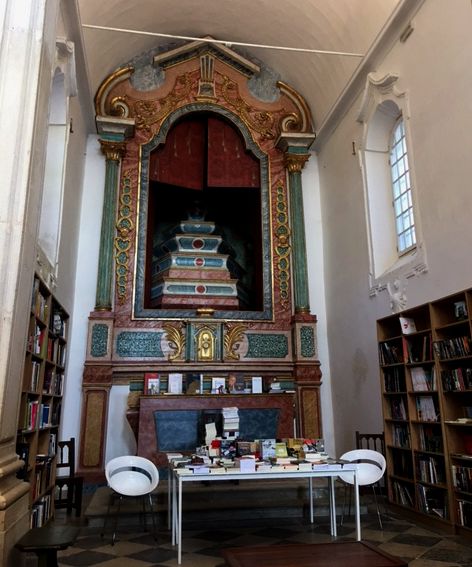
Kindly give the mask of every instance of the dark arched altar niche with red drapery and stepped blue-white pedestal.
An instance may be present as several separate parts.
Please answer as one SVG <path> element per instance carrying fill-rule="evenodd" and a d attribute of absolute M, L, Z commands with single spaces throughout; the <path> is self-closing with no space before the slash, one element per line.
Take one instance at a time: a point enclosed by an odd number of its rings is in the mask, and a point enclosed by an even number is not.
<path fill-rule="evenodd" d="M 271 318 L 267 158 L 238 126 L 219 112 L 186 112 L 143 146 L 137 318 L 193 317 L 200 306 L 215 318 Z M 195 203 L 214 230 L 182 246 Z M 221 245 L 209 254 L 210 236 Z"/>

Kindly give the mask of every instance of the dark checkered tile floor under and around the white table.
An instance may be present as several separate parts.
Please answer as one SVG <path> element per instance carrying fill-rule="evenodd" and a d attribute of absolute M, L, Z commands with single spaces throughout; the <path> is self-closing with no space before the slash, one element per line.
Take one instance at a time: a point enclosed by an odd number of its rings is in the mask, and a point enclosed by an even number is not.
<path fill-rule="evenodd" d="M 57 521 L 64 521 L 59 517 Z M 414 524 L 386 510 L 383 530 L 375 515 L 362 516 L 362 537 L 383 551 L 409 562 L 410 567 L 472 567 L 472 540 L 440 534 Z M 338 525 L 338 541 L 353 540 L 352 520 Z M 111 534 L 100 536 L 98 525 L 83 525 L 74 545 L 59 552 L 59 565 L 96 567 L 177 566 L 177 549 L 171 545 L 165 518 L 160 519 L 157 542 L 139 527 L 120 527 L 115 545 Z M 235 521 L 201 521 L 189 524 L 183 532 L 183 567 L 217 567 L 223 564 L 225 547 L 324 543 L 332 541 L 325 517 L 311 525 L 303 518 Z M 300 566 L 302 567 L 302 566 Z"/>

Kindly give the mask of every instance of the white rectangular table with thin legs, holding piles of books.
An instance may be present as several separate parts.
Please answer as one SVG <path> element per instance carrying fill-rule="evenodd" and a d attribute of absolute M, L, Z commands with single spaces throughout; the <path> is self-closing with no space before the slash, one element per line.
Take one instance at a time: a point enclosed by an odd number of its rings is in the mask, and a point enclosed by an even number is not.
<path fill-rule="evenodd" d="M 245 473 L 236 468 L 213 469 L 210 473 L 195 474 L 184 468 L 170 468 L 169 478 L 169 500 L 171 500 L 172 514 L 169 520 L 172 524 L 172 545 L 177 544 L 177 561 L 182 563 L 182 509 L 183 509 L 183 485 L 186 482 L 202 482 L 216 480 L 281 480 L 284 479 L 303 479 L 308 480 L 309 499 L 310 499 L 310 522 L 313 523 L 313 479 L 327 478 L 330 493 L 330 523 L 331 535 L 336 536 L 336 500 L 334 481 L 341 474 L 352 474 L 355 497 L 355 517 L 356 517 L 356 536 L 361 539 L 361 521 L 359 504 L 359 483 L 357 477 L 357 466 L 355 464 L 344 464 L 342 467 L 336 465 L 322 465 L 315 467 L 311 471 L 289 471 L 273 470 L 264 472 Z M 215 472 L 216 471 L 216 472 Z"/>

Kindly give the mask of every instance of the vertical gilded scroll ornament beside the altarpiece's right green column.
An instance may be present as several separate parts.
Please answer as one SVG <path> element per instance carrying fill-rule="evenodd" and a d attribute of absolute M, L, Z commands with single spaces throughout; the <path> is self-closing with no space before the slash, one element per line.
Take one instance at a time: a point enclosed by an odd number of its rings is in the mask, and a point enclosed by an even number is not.
<path fill-rule="evenodd" d="M 290 300 L 290 228 L 284 186 L 280 182 L 276 188 L 276 209 L 275 253 L 277 255 L 280 304 L 284 309 L 288 309 Z"/>

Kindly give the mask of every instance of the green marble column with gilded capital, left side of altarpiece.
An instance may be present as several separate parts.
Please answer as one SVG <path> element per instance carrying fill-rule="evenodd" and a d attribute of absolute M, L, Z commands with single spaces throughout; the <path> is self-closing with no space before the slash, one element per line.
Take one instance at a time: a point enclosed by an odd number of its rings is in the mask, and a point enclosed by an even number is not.
<path fill-rule="evenodd" d="M 124 142 L 100 140 L 100 145 L 106 157 L 106 173 L 95 310 L 109 311 L 112 308 L 113 298 L 113 250 L 116 230 L 118 176 L 120 160 L 125 152 L 126 144 Z"/>

